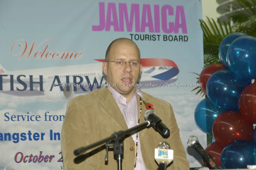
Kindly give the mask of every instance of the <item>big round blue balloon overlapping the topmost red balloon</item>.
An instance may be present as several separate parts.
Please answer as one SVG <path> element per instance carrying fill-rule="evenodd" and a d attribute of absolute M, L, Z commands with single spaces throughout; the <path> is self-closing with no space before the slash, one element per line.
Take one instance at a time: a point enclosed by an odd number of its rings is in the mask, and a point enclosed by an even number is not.
<path fill-rule="evenodd" d="M 238 98 L 248 81 L 239 78 L 231 70 L 219 70 L 211 75 L 206 93 L 213 104 L 226 110 L 238 109 Z"/>

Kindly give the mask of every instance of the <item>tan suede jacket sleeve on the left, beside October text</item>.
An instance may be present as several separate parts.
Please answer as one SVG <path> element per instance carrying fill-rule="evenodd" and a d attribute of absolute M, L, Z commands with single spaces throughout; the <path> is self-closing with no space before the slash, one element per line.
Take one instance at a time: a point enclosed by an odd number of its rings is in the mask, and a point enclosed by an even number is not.
<path fill-rule="evenodd" d="M 67 104 L 61 131 L 61 151 L 65 170 L 93 169 L 89 158 L 79 163 L 74 155 L 75 149 L 87 146 L 88 143 L 88 131 L 81 106 L 78 106 L 75 99 L 71 99 Z"/>

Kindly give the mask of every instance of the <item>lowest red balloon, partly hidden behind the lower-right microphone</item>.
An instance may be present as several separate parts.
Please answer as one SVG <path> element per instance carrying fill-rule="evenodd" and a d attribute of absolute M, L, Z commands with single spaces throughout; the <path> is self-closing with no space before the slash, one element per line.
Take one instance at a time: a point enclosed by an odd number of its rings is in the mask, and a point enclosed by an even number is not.
<path fill-rule="evenodd" d="M 213 158 L 213 161 L 214 163 L 217 165 L 217 166 L 220 166 L 221 167 L 221 163 L 220 163 L 220 155 L 221 155 L 221 152 L 222 150 L 224 149 L 223 146 L 221 146 L 218 142 L 212 142 L 210 143 L 206 148 L 205 148 L 205 151 L 207 152 L 207 154 L 210 154 L 211 157 Z M 203 161 L 204 163 L 204 161 Z M 204 166 L 205 163 L 204 163 Z"/>

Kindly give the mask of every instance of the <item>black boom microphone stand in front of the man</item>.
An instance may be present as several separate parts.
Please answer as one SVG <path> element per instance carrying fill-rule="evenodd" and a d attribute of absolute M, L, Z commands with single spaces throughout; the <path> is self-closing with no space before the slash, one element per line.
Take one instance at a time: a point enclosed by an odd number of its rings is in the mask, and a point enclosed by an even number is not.
<path fill-rule="evenodd" d="M 123 154 L 124 154 L 123 153 L 124 152 L 124 147 L 123 147 L 123 139 L 122 138 L 126 134 L 128 134 L 132 131 L 135 131 L 137 129 L 140 129 L 140 128 L 143 128 L 143 127 L 146 127 L 146 126 L 150 126 L 150 125 L 151 125 L 150 121 L 145 121 L 144 123 L 139 124 L 137 126 L 134 126 L 133 128 L 127 129 L 125 131 L 113 132 L 113 134 L 108 138 L 105 138 L 105 139 L 102 139 L 102 140 L 97 141 L 95 143 L 92 143 L 92 144 L 90 144 L 86 147 L 81 147 L 81 148 L 78 148 L 78 149 L 74 150 L 74 154 L 75 155 L 80 155 L 81 153 L 87 151 L 88 149 L 94 148 L 94 147 L 96 147 L 98 145 L 101 145 L 103 143 L 106 143 L 107 151 L 108 151 L 108 147 L 110 146 L 109 141 L 113 140 L 114 157 L 117 160 L 117 169 L 122 170 L 122 159 L 123 159 Z M 106 154 L 105 160 L 108 160 L 107 154 Z"/>

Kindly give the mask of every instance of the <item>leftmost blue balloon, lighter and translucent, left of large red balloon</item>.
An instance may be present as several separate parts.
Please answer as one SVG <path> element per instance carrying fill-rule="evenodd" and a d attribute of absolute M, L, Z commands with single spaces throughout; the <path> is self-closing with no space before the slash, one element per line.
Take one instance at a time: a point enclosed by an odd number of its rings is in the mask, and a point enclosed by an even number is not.
<path fill-rule="evenodd" d="M 199 102 L 195 109 L 195 122 L 197 127 L 207 134 L 212 134 L 212 124 L 216 117 L 227 110 L 215 106 L 207 97 Z"/>

